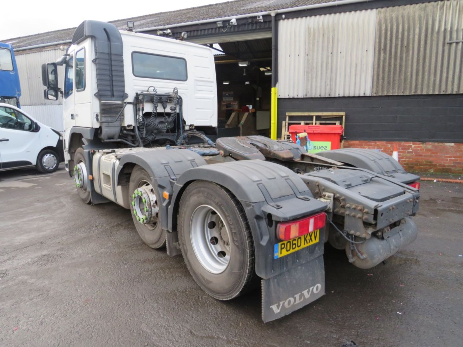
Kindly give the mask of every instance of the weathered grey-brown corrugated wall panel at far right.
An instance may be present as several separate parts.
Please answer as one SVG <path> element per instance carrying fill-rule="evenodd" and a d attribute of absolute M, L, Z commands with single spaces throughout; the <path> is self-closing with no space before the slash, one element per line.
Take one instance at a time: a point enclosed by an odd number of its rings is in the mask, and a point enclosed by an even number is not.
<path fill-rule="evenodd" d="M 373 95 L 463 93 L 463 0 L 378 9 Z"/>

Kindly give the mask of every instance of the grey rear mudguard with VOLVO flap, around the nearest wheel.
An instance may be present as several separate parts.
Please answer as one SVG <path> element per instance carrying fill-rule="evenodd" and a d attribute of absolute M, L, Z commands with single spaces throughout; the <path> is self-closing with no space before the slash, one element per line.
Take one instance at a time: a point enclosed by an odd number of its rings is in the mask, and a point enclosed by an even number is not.
<path fill-rule="evenodd" d="M 281 165 L 235 161 L 191 168 L 175 182 L 169 208 L 169 230 L 176 231 L 178 202 L 195 180 L 225 187 L 242 204 L 255 249 L 255 270 L 262 280 L 262 317 L 269 322 L 311 303 L 325 294 L 324 229 L 319 242 L 275 259 L 278 222 L 310 216 L 326 209 L 313 198 L 300 177 Z"/>

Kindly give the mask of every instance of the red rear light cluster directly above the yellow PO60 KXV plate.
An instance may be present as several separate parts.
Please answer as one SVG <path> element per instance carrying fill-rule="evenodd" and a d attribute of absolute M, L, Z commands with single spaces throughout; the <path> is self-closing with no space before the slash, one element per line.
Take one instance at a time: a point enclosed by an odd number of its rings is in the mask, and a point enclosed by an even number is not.
<path fill-rule="evenodd" d="M 282 241 L 288 241 L 295 237 L 306 235 L 325 226 L 326 214 L 321 212 L 315 216 L 306 217 L 297 221 L 278 223 L 277 236 Z"/>

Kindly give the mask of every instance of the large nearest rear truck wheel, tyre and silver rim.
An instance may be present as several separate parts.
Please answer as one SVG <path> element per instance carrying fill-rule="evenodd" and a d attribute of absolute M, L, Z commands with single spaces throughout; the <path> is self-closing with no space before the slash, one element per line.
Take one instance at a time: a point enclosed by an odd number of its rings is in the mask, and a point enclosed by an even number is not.
<path fill-rule="evenodd" d="M 196 181 L 183 193 L 179 211 L 181 252 L 196 283 L 219 300 L 242 294 L 254 275 L 254 247 L 237 198 L 212 182 Z"/>

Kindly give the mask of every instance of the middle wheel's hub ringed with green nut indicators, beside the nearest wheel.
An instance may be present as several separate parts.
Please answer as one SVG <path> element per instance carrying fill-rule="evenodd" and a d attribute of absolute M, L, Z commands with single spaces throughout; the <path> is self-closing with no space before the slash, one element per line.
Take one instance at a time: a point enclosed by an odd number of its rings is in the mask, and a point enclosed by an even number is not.
<path fill-rule="evenodd" d="M 142 224 L 157 223 L 159 208 L 156 195 L 152 192 L 152 187 L 149 184 L 135 189 L 132 194 L 132 207 L 138 222 Z"/>

